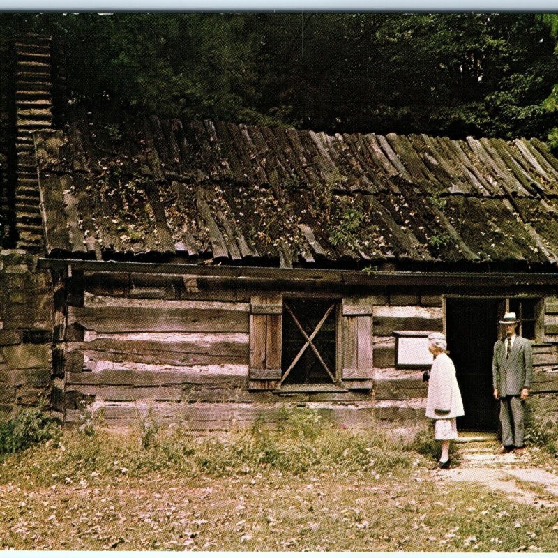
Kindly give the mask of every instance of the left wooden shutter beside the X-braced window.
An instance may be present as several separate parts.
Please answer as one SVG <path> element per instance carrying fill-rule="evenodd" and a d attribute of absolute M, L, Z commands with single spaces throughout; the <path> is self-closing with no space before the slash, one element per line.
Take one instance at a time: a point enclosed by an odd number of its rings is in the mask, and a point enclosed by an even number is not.
<path fill-rule="evenodd" d="M 282 296 L 250 299 L 248 389 L 275 389 L 281 379 Z"/>

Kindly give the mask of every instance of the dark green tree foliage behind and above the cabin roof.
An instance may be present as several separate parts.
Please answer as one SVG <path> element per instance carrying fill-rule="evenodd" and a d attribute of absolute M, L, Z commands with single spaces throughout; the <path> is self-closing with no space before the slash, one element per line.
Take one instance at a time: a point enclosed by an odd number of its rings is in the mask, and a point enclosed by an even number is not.
<path fill-rule="evenodd" d="M 558 106 L 557 30 L 556 16 L 511 13 L 0 19 L 4 38 L 63 38 L 70 92 L 88 106 L 330 133 L 542 139 Z"/>

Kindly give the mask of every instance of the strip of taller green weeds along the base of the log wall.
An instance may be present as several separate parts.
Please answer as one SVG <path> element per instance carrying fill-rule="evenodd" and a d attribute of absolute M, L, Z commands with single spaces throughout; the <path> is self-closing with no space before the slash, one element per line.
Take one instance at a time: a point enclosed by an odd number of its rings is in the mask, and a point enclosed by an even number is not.
<path fill-rule="evenodd" d="M 187 425 L 163 426 L 153 417 L 134 435 L 105 428 L 67 430 L 59 439 L 30 448 L 25 475 L 38 485 L 93 475 L 93 478 L 168 478 L 243 476 L 278 471 L 303 474 L 338 470 L 382 474 L 411 466 L 413 455 L 373 428 L 351 432 L 335 428 L 312 409 L 280 409 L 273 427 L 263 419 L 252 428 L 195 437 Z M 10 467 L 0 481 L 11 481 Z"/>

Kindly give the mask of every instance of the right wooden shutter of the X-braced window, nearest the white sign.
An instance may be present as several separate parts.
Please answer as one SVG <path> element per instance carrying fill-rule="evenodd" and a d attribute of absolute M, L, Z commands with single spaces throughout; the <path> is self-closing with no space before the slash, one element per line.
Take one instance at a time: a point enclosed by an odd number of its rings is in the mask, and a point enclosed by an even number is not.
<path fill-rule="evenodd" d="M 342 300 L 338 347 L 343 385 L 349 389 L 372 389 L 372 299 Z"/>

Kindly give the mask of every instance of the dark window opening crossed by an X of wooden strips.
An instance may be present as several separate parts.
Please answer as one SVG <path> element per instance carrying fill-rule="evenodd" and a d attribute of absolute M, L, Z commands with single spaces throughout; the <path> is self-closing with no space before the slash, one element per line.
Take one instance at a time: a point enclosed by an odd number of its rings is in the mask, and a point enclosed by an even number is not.
<path fill-rule="evenodd" d="M 335 302 L 283 303 L 281 384 L 335 383 Z"/>

